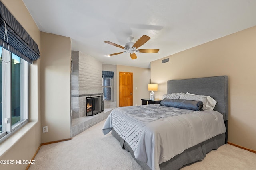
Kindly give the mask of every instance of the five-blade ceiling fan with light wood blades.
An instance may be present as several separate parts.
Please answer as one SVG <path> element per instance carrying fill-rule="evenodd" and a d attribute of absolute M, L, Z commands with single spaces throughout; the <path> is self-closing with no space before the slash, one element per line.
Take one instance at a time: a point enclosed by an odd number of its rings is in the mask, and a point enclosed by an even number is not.
<path fill-rule="evenodd" d="M 109 54 L 107 55 L 108 57 L 112 56 L 112 55 L 117 55 L 117 54 L 122 54 L 122 53 L 130 53 L 130 56 L 132 59 L 137 59 L 137 55 L 134 52 L 139 52 L 139 53 L 157 53 L 159 51 L 159 49 L 137 49 L 140 46 L 142 46 L 143 44 L 145 44 L 150 37 L 148 37 L 147 35 L 143 35 L 142 37 L 140 37 L 140 39 L 138 39 L 135 43 L 133 43 L 134 37 L 128 37 L 128 43 L 126 43 L 123 46 L 112 43 L 110 41 L 105 41 L 105 43 L 110 44 L 110 45 L 114 45 L 116 47 L 119 47 L 121 49 L 124 49 L 125 51 L 123 52 L 119 52 L 119 53 L 113 53 L 113 54 Z"/>

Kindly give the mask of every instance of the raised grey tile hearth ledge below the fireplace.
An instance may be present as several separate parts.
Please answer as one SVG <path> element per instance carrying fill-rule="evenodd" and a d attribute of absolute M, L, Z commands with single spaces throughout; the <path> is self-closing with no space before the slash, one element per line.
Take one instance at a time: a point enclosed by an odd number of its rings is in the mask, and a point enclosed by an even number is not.
<path fill-rule="evenodd" d="M 84 116 L 76 119 L 72 119 L 71 137 L 82 133 L 89 127 L 96 125 L 108 117 L 110 112 L 114 108 L 104 108 L 104 111 L 93 116 Z"/>

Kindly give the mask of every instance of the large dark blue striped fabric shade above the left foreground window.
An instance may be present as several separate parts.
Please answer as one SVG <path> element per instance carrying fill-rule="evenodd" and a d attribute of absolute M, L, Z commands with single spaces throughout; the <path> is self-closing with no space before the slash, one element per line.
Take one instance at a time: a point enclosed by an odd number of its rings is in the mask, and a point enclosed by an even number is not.
<path fill-rule="evenodd" d="M 36 42 L 28 35 L 27 31 L 8 11 L 4 4 L 0 2 L 0 46 L 8 50 L 6 35 L 4 38 L 5 28 L 7 29 L 10 52 L 31 64 L 34 60 L 40 58 L 40 52 Z"/>

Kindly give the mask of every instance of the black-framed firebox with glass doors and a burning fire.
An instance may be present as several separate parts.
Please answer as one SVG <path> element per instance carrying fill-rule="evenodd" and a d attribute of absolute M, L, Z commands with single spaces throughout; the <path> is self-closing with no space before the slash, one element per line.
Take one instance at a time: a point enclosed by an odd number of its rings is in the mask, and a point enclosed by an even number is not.
<path fill-rule="evenodd" d="M 104 111 L 104 96 L 86 97 L 86 116 L 93 116 Z"/>

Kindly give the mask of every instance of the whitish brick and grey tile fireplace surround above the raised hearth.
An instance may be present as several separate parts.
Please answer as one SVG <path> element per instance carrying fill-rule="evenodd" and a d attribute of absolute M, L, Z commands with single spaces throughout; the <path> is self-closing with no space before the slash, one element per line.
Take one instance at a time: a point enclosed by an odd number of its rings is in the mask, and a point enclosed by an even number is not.
<path fill-rule="evenodd" d="M 80 51 L 72 51 L 72 118 L 86 116 L 86 98 L 102 95 L 102 62 Z"/>

